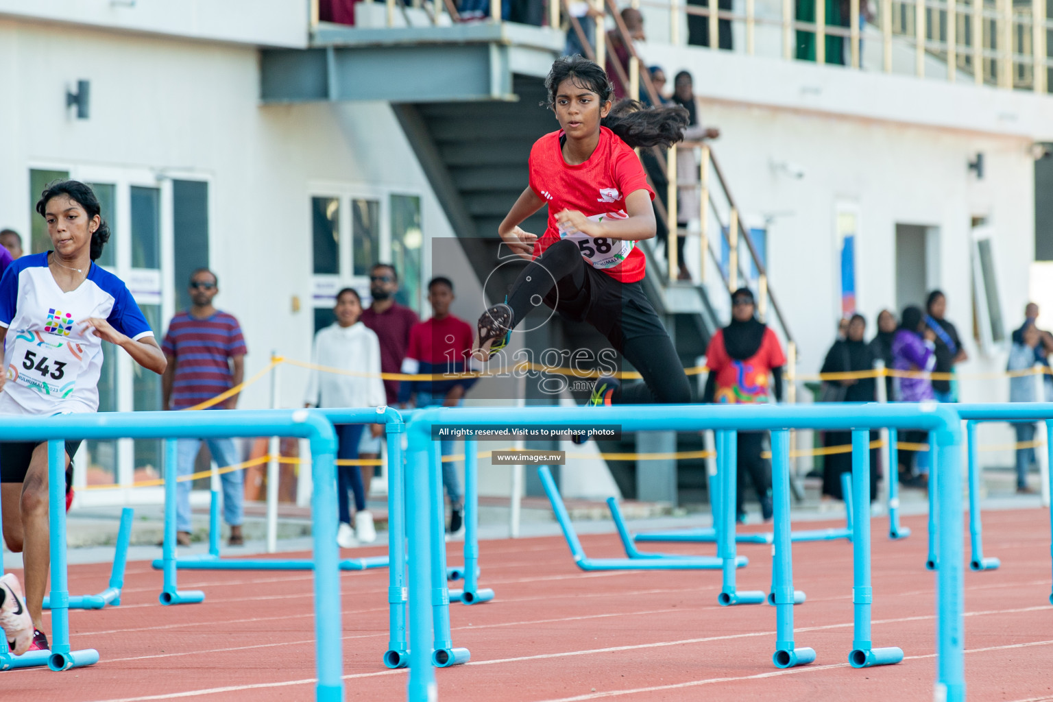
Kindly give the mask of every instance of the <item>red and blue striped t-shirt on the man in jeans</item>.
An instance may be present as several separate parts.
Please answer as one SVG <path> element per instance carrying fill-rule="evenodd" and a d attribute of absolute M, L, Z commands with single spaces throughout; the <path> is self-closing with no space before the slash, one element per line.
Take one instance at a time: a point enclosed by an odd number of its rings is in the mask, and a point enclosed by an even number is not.
<path fill-rule="evenodd" d="M 177 313 L 161 349 L 176 359 L 172 408 L 181 409 L 211 400 L 233 386 L 230 359 L 247 352 L 241 326 L 233 315 L 216 312 L 206 319 Z M 212 409 L 222 408 L 223 403 Z"/>

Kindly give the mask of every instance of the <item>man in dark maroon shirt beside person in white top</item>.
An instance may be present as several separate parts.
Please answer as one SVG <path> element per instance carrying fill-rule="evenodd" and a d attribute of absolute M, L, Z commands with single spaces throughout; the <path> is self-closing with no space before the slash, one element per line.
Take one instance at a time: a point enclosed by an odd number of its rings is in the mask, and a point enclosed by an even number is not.
<path fill-rule="evenodd" d="M 410 329 L 420 321 L 417 313 L 395 301 L 398 293 L 398 273 L 391 263 L 376 263 L 370 268 L 370 296 L 373 302 L 362 312 L 361 322 L 373 329 L 380 340 L 381 373 L 399 373 L 405 350 L 410 346 Z M 398 403 L 399 381 L 384 381 L 384 396 L 388 404 Z M 380 457 L 380 445 L 383 437 L 383 424 L 374 424 L 370 430 L 362 432 L 362 440 L 358 444 L 360 459 L 376 459 Z M 370 494 L 370 481 L 373 480 L 373 466 L 363 465 L 362 486 L 365 495 Z"/>

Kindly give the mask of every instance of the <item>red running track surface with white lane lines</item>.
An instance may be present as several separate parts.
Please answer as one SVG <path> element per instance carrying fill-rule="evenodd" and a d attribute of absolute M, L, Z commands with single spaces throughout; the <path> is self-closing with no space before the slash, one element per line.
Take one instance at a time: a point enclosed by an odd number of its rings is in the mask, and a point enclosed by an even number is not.
<path fill-rule="evenodd" d="M 1048 515 L 991 512 L 984 520 L 985 553 L 1002 565 L 966 573 L 969 699 L 1053 701 Z M 852 566 L 843 541 L 794 544 L 794 584 L 808 593 L 808 602 L 795 608 L 797 645 L 815 648 L 817 659 L 790 670 L 771 663 L 774 608 L 718 606 L 719 573 L 585 574 L 560 538 L 485 541 L 481 584 L 497 597 L 451 605 L 454 645 L 468 646 L 473 660 L 436 671 L 439 699 L 932 700 L 935 576 L 923 566 L 926 518 L 903 521 L 914 529 L 911 538 L 888 541 L 878 519 L 873 542 L 874 645 L 900 646 L 906 659 L 899 665 L 856 670 L 847 663 Z M 621 555 L 614 535 L 581 540 L 590 556 Z M 459 547 L 452 544 L 452 563 L 460 562 Z M 683 550 L 712 554 L 713 546 Z M 739 586 L 767 590 L 770 547 L 743 544 L 740 553 L 752 562 L 738 571 Z M 71 568 L 73 593 L 101 589 L 108 567 Z M 181 588 L 205 590 L 205 601 L 163 607 L 160 573 L 130 564 L 123 605 L 72 613 L 74 647 L 98 648 L 99 664 L 61 674 L 2 673 L 0 699 L 313 699 L 310 574 L 183 570 L 179 579 Z M 381 664 L 386 579 L 385 570 L 343 576 L 347 700 L 405 699 L 406 671 Z"/>

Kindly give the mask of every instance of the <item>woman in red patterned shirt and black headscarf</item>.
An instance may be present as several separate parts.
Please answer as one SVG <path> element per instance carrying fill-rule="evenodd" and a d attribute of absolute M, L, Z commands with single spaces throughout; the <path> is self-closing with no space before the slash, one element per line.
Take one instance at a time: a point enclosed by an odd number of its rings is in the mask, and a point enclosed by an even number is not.
<path fill-rule="evenodd" d="M 706 352 L 710 375 L 702 402 L 739 404 L 782 400 L 782 366 L 786 355 L 775 332 L 754 317 L 753 293 L 740 287 L 732 296 L 731 323 L 718 329 Z M 769 386 L 769 376 L 772 384 Z M 760 502 L 764 521 L 772 518 L 772 467 L 762 457 L 767 432 L 738 433 L 738 490 L 735 514 L 746 520 L 746 479 L 749 478 Z"/>

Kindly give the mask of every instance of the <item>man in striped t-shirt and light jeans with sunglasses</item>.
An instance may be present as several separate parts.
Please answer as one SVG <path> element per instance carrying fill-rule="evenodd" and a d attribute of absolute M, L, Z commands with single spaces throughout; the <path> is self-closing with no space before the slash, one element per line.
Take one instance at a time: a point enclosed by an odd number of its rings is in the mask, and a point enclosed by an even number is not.
<path fill-rule="evenodd" d="M 212 301 L 219 293 L 219 281 L 208 268 L 198 268 L 191 274 L 191 308 L 177 313 L 168 324 L 168 333 L 161 344 L 168 360 L 162 380 L 162 406 L 165 409 L 185 409 L 225 393 L 241 383 L 244 377 L 244 358 L 247 353 L 241 326 L 233 315 L 216 309 Z M 238 396 L 234 395 L 211 409 L 234 409 Z M 239 463 L 234 439 L 179 439 L 177 473 L 180 476 L 194 472 L 201 442 L 208 443 L 208 450 L 220 468 Z M 244 543 L 241 534 L 244 476 L 241 470 L 221 473 L 223 483 L 223 520 L 231 525 L 227 545 Z M 191 543 L 191 481 L 179 483 L 176 500 L 177 541 Z"/>

